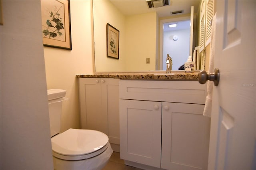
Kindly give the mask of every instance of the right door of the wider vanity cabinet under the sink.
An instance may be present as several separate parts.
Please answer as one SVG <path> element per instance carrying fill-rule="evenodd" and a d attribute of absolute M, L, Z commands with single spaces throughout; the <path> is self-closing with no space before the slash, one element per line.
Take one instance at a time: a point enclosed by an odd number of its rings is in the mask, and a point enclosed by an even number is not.
<path fill-rule="evenodd" d="M 204 105 L 163 102 L 162 108 L 161 168 L 206 170 L 210 119 Z"/>

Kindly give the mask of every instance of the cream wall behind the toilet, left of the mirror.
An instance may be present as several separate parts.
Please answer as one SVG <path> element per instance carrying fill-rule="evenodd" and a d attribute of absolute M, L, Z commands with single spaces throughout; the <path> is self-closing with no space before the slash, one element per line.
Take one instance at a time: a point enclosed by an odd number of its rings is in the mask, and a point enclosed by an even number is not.
<path fill-rule="evenodd" d="M 93 73 L 92 2 L 70 0 L 72 50 L 44 47 L 47 89 L 64 89 L 61 131 L 80 128 L 76 74 Z"/>

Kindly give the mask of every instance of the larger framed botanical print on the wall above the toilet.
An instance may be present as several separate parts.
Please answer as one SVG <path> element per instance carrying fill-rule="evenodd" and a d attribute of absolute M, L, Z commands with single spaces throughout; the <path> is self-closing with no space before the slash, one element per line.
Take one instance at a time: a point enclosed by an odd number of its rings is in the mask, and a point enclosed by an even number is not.
<path fill-rule="evenodd" d="M 41 0 L 44 46 L 72 50 L 70 0 Z"/>

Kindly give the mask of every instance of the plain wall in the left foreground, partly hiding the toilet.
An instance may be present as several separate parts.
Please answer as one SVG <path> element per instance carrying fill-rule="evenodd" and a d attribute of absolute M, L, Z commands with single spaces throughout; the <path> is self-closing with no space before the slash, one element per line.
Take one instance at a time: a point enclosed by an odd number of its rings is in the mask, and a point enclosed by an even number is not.
<path fill-rule="evenodd" d="M 1 169 L 53 169 L 40 1 L 2 1 Z"/>

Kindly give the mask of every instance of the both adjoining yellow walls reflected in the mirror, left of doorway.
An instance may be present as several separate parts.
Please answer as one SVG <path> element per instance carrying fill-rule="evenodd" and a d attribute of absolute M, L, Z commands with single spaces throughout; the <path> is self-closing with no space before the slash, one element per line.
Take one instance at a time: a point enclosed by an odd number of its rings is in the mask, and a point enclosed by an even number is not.
<path fill-rule="evenodd" d="M 96 71 L 155 70 L 158 51 L 156 12 L 124 16 L 109 1 L 94 1 L 93 6 Z M 118 60 L 106 57 L 107 23 L 120 31 Z M 146 58 L 150 58 L 149 64 L 146 64 Z"/>

